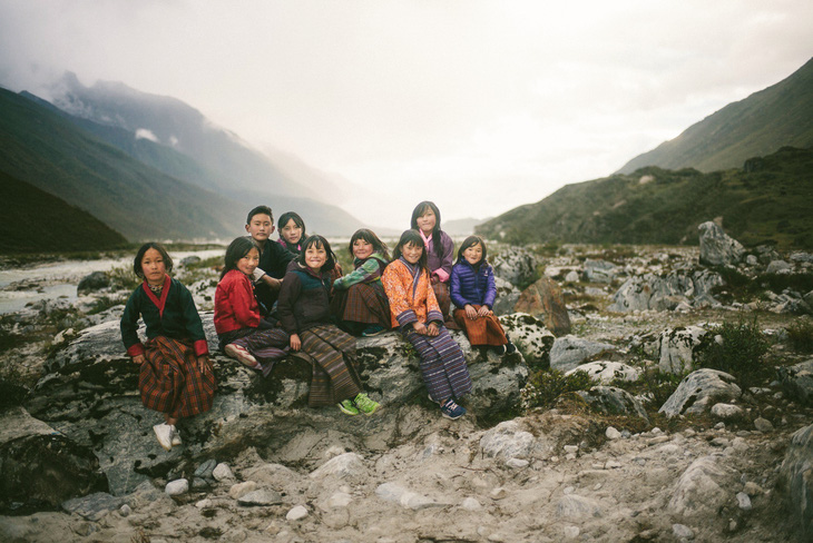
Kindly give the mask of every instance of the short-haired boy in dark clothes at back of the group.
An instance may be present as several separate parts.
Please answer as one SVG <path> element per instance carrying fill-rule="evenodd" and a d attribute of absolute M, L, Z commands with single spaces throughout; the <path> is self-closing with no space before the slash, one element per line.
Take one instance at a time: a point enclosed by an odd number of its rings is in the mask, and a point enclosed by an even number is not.
<path fill-rule="evenodd" d="M 268 241 L 274 234 L 274 215 L 268 206 L 257 206 L 248 211 L 246 231 L 259 247 L 259 266 L 254 270 L 254 296 L 264 308 L 263 313 L 268 315 L 280 295 L 288 263 L 296 255 L 277 243 Z"/>

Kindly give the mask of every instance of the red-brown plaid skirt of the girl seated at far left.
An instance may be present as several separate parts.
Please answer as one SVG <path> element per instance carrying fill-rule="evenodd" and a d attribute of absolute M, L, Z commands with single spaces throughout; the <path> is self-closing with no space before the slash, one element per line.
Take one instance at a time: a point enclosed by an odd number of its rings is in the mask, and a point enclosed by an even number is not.
<path fill-rule="evenodd" d="M 212 371 L 197 367 L 192 342 L 165 336 L 145 344 L 145 363 L 138 376 L 138 389 L 145 407 L 173 418 L 205 413 L 212 408 L 217 385 Z"/>

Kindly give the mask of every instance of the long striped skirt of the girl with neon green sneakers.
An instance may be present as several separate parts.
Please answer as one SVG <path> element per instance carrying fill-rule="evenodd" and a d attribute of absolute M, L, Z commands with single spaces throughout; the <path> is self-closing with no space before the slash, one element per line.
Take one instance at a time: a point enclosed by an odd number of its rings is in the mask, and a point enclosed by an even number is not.
<path fill-rule="evenodd" d="M 310 407 L 335 405 L 361 392 L 355 368 L 355 338 L 333 325 L 308 328 L 300 334 L 302 353 L 311 359 Z"/>

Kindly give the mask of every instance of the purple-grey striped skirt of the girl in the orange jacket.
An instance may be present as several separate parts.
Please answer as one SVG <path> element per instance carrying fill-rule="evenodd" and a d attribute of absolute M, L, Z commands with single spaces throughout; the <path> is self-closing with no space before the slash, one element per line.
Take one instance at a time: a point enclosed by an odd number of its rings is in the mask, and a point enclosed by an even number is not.
<path fill-rule="evenodd" d="M 459 399 L 471 392 L 471 377 L 463 352 L 445 327 L 441 326 L 440 334 L 434 337 L 418 334 L 409 327 L 404 337 L 421 357 L 421 376 L 434 402 L 444 402 L 450 397 Z"/>

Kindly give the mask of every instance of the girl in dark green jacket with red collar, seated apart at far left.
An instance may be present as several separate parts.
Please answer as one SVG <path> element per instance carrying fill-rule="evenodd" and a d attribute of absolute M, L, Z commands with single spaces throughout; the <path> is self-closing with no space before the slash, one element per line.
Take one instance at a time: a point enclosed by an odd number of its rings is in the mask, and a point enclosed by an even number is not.
<path fill-rule="evenodd" d="M 167 275 L 172 269 L 173 259 L 160 244 L 144 244 L 133 263 L 144 283 L 133 292 L 121 316 L 127 354 L 141 366 L 141 403 L 164 414 L 164 423 L 153 430 L 166 451 L 182 444 L 178 421 L 209 411 L 217 387 L 195 302 L 184 285 Z M 138 338 L 139 317 L 147 327 L 144 344 Z"/>

